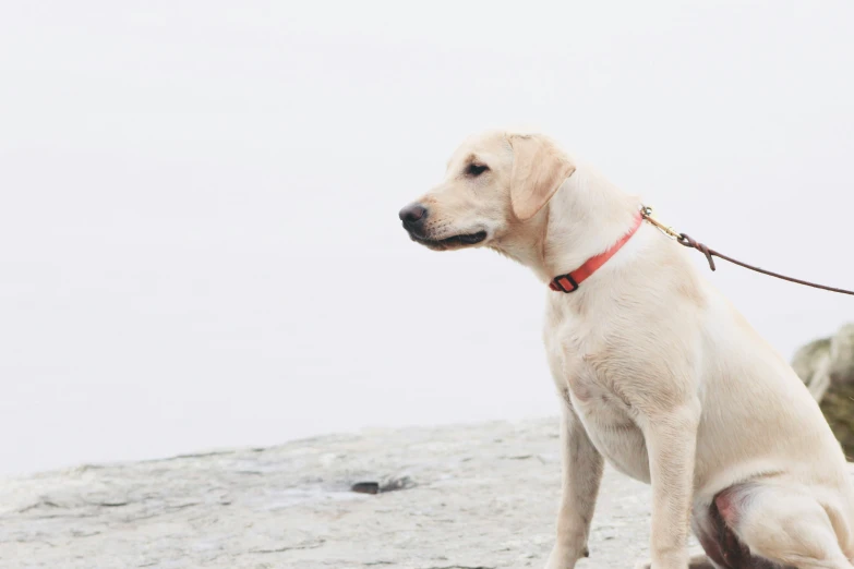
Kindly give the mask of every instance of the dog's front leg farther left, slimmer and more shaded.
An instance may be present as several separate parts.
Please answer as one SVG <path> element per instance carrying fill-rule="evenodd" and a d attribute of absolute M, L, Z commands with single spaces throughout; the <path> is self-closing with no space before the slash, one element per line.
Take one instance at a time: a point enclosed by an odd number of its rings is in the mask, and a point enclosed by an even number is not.
<path fill-rule="evenodd" d="M 590 443 L 568 400 L 562 401 L 562 410 L 563 491 L 557 514 L 557 541 L 546 569 L 573 569 L 579 558 L 587 557 L 590 521 L 604 467 L 602 456 Z"/>

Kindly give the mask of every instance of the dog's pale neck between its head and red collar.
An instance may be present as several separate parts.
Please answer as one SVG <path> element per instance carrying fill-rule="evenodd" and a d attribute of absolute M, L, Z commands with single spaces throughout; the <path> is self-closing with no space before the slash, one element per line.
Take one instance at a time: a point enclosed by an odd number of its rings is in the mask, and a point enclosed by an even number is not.
<path fill-rule="evenodd" d="M 543 282 L 573 271 L 616 243 L 637 219 L 640 202 L 589 167 L 579 167 L 503 252 Z"/>

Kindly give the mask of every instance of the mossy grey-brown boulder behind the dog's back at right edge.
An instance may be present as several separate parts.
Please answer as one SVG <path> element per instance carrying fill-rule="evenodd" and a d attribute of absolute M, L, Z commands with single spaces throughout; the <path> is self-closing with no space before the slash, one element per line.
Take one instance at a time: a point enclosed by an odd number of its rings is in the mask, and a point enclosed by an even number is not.
<path fill-rule="evenodd" d="M 854 458 L 854 324 L 801 348 L 792 366 L 819 402 L 851 460 Z"/>

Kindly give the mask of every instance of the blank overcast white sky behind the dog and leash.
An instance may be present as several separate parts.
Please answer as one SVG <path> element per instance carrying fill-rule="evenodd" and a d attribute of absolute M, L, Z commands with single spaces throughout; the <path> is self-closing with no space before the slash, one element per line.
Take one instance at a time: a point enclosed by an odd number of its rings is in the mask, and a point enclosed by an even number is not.
<path fill-rule="evenodd" d="M 0 472 L 555 413 L 548 291 L 397 219 L 484 128 L 854 287 L 852 28 L 850 0 L 3 2 Z M 786 358 L 854 319 L 708 278 Z"/>

